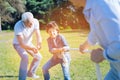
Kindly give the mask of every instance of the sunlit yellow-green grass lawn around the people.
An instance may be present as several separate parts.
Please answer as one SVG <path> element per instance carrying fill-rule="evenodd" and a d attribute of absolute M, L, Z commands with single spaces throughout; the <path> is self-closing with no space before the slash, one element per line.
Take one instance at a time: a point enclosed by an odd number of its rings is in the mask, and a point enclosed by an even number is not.
<path fill-rule="evenodd" d="M 70 47 L 79 47 L 81 43 L 87 38 L 88 31 L 62 31 L 61 34 L 65 36 Z M 43 56 L 41 64 L 37 70 L 37 74 L 40 79 L 43 80 L 42 66 L 51 58 L 51 54 L 48 52 L 48 46 L 46 39 L 48 34 L 45 31 L 41 31 L 42 35 L 42 49 L 40 53 Z M 17 80 L 18 69 L 20 64 L 20 57 L 12 46 L 14 32 L 3 31 L 0 32 L 0 80 Z M 35 39 L 33 41 L 35 43 Z M 97 48 L 99 46 L 91 47 Z M 91 62 L 89 54 L 80 54 L 78 51 L 70 51 L 71 65 L 70 74 L 71 80 L 97 80 L 95 74 L 94 63 Z M 32 57 L 29 56 L 29 63 Z M 102 76 L 104 77 L 109 70 L 108 62 L 104 61 L 100 63 Z M 63 74 L 60 65 L 57 65 L 50 69 L 51 80 L 63 80 Z M 28 78 L 27 80 L 33 80 Z"/>

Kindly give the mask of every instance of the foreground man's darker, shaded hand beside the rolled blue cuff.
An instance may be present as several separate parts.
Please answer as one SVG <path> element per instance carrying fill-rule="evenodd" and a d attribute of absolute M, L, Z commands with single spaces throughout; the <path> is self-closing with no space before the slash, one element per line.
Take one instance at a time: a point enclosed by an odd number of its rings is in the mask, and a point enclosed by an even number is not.
<path fill-rule="evenodd" d="M 91 60 L 95 63 L 100 63 L 104 60 L 103 50 L 101 48 L 94 49 L 91 52 Z"/>

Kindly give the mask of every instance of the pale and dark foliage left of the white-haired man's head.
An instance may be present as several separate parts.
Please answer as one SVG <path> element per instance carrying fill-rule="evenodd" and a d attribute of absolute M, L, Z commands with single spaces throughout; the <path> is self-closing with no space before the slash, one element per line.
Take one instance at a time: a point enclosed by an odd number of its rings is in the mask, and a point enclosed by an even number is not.
<path fill-rule="evenodd" d="M 16 19 L 20 17 L 20 14 L 25 11 L 24 2 L 25 0 L 0 0 L 0 18 L 2 26 L 7 24 L 3 29 L 10 26 L 8 24 L 12 24 L 13 21 L 16 21 Z"/>

